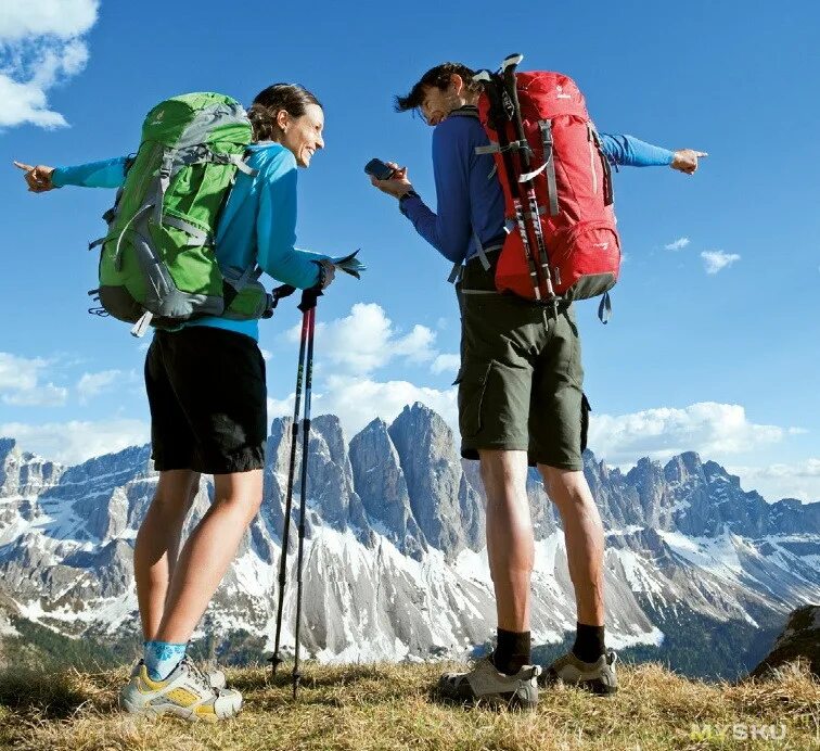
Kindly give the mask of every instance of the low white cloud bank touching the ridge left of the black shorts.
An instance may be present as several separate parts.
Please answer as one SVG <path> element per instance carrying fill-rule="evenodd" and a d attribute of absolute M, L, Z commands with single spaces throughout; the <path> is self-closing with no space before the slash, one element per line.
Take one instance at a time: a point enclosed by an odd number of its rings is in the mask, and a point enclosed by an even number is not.
<path fill-rule="evenodd" d="M 129 419 L 73 420 L 41 425 L 7 422 L 0 424 L 0 435 L 16 438 L 26 451 L 64 464 L 76 464 L 94 456 L 148 443 L 150 429 L 146 422 Z"/>

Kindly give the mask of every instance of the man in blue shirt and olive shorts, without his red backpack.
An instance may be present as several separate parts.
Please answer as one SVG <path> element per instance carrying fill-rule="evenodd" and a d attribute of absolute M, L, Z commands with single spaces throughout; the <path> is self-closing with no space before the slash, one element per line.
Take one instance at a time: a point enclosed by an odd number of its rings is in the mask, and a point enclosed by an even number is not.
<path fill-rule="evenodd" d="M 575 311 L 561 303 L 553 319 L 531 302 L 492 294 L 504 236 L 504 199 L 486 153 L 477 117 L 482 93 L 474 72 L 444 63 L 425 73 L 396 111 L 420 111 L 433 131 L 437 211 L 413 190 L 407 169 L 388 162 L 389 179 L 373 184 L 399 200 L 415 230 L 453 264 L 464 264 L 457 285 L 462 315 L 459 385 L 461 454 L 481 461 L 487 496 L 487 551 L 496 594 L 495 651 L 466 673 L 447 674 L 440 691 L 453 698 L 501 700 L 533 707 L 540 669 L 530 665 L 530 574 L 534 537 L 526 494 L 535 464 L 562 519 L 577 603 L 572 650 L 541 676 L 595 692 L 617 689 L 615 653 L 604 641 L 601 519 L 584 476 L 589 404 Z M 601 135 L 617 165 L 668 165 L 693 174 L 703 152 L 667 151 L 630 136 Z M 484 149 L 485 153 L 476 153 Z M 513 230 L 514 231 L 514 230 Z M 485 269 L 484 256 L 489 262 Z"/>

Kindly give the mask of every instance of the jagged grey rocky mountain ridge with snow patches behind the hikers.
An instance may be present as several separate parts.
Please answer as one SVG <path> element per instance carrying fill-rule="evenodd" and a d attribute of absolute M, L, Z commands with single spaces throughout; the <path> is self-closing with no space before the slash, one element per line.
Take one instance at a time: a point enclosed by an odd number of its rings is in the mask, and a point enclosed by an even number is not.
<path fill-rule="evenodd" d="M 292 434 L 290 418 L 272 421 L 262 508 L 206 614 L 208 628 L 271 633 Z M 156 483 L 149 457 L 148 446 L 134 446 L 62 467 L 0 441 L 0 581 L 21 616 L 74 636 L 137 628 L 130 567 Z M 607 534 L 613 646 L 657 647 L 676 624 L 699 619 L 752 634 L 820 600 L 820 504 L 768 504 L 692 451 L 665 464 L 641 460 L 626 473 L 588 453 L 585 473 Z M 338 418 L 320 416 L 308 480 L 308 653 L 417 660 L 463 654 L 486 640 L 495 608 L 477 462 L 460 458 L 438 415 L 417 403 L 349 441 Z M 297 482 L 294 509 L 299 492 Z M 554 644 L 575 627 L 563 534 L 535 471 L 527 494 L 538 560 L 534 637 Z M 187 530 L 212 495 L 203 479 Z M 290 552 L 296 539 L 294 524 Z M 285 626 L 286 647 L 292 638 Z"/>

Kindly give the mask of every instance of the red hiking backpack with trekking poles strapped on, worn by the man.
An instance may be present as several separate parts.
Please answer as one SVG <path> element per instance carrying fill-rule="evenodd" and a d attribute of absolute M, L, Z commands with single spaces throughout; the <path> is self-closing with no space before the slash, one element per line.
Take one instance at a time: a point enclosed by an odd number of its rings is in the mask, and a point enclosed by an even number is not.
<path fill-rule="evenodd" d="M 515 73 L 511 55 L 484 84 L 478 116 L 490 139 L 514 226 L 496 269 L 496 287 L 542 303 L 603 294 L 618 278 L 612 174 L 578 87 L 560 73 Z"/>

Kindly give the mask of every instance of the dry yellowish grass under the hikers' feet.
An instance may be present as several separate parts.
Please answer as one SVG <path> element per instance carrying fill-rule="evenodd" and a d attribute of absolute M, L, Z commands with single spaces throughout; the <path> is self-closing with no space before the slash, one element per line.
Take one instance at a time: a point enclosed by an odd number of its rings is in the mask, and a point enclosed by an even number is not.
<path fill-rule="evenodd" d="M 297 702 L 290 674 L 229 672 L 246 709 L 219 725 L 124 715 L 126 671 L 0 676 L 0 748 L 71 749 L 820 749 L 820 684 L 792 667 L 765 680 L 714 685 L 655 664 L 622 667 L 622 690 L 595 698 L 559 687 L 537 712 L 440 704 L 431 686 L 444 665 L 307 665 Z M 693 725 L 710 725 L 706 738 Z M 735 727 L 736 724 L 736 727 Z M 781 740 L 741 738 L 752 725 L 785 727 Z M 719 731 L 728 728 L 726 735 Z"/>

